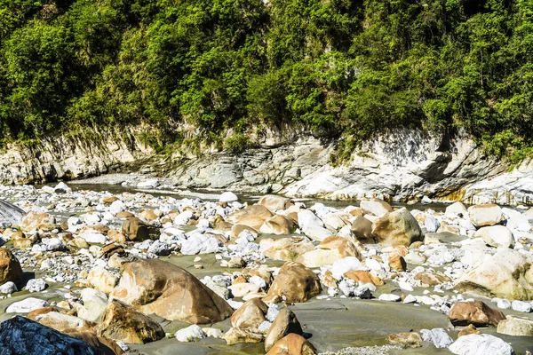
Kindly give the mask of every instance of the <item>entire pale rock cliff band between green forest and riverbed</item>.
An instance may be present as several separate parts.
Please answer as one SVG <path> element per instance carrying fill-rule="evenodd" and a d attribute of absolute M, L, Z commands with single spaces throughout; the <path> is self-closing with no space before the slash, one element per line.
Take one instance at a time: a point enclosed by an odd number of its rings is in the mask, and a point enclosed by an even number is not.
<path fill-rule="evenodd" d="M 505 160 L 486 156 L 465 134 L 436 137 L 395 130 L 365 142 L 349 162 L 330 164 L 332 143 L 292 131 L 269 132 L 263 145 L 242 154 L 157 156 L 135 130 L 94 132 L 85 138 L 48 138 L 11 145 L 0 154 L 0 183 L 23 184 L 105 174 L 147 159 L 143 171 L 170 177 L 178 188 L 283 193 L 295 197 L 390 201 L 533 203 L 533 162 L 509 171 Z M 299 137 L 299 138 L 298 138 Z M 147 169 L 149 168 L 149 169 Z"/>

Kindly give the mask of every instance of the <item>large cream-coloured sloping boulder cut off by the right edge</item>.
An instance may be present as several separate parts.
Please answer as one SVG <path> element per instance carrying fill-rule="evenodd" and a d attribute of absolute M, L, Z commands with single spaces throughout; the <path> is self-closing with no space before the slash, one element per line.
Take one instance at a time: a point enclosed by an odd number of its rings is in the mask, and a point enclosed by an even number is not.
<path fill-rule="evenodd" d="M 533 299 L 533 258 L 502 248 L 457 280 L 456 288 L 490 298 Z"/>

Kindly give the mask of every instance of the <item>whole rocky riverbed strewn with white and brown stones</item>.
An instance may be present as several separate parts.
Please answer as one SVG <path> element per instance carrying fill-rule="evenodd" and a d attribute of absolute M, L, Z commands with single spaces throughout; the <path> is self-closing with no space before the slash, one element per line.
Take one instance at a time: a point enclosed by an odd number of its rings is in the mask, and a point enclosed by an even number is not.
<path fill-rule="evenodd" d="M 533 351 L 533 209 L 164 183 L 0 186 L 1 354 Z"/>

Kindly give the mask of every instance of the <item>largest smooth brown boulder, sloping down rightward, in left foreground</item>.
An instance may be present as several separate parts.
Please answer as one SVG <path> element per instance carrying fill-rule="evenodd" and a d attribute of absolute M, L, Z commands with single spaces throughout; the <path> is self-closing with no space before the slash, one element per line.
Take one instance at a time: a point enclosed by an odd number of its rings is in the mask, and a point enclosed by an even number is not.
<path fill-rule="evenodd" d="M 179 266 L 149 259 L 123 264 L 123 269 L 111 296 L 140 312 L 194 324 L 217 322 L 233 313 L 224 299 Z"/>

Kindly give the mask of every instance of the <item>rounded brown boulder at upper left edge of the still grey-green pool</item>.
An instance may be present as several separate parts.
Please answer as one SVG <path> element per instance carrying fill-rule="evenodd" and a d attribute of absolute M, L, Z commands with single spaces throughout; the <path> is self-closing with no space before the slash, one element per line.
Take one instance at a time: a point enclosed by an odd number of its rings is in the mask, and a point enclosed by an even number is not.
<path fill-rule="evenodd" d="M 287 262 L 268 290 L 268 296 L 280 296 L 288 302 L 306 302 L 320 295 L 322 287 L 318 276 L 303 264 Z"/>

